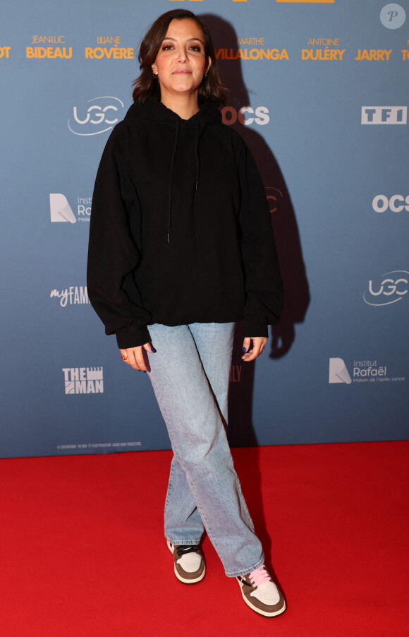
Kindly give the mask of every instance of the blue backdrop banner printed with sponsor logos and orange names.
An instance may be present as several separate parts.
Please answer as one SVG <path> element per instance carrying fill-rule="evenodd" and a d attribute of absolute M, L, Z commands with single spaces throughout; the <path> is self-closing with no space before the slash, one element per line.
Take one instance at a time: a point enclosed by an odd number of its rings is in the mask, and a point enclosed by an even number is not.
<path fill-rule="evenodd" d="M 408 2 L 16 0 L 0 28 L 0 456 L 170 447 L 85 270 L 140 40 L 178 7 L 214 37 L 224 122 L 260 167 L 286 286 L 254 364 L 237 326 L 231 443 L 407 438 Z"/>

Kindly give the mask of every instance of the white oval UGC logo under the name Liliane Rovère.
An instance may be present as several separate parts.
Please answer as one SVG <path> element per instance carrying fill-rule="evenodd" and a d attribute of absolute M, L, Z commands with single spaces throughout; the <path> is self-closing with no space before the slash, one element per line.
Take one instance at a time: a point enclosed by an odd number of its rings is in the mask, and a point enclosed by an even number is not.
<path fill-rule="evenodd" d="M 99 135 L 109 131 L 118 121 L 117 115 L 123 108 L 123 102 L 118 97 L 105 95 L 104 97 L 92 97 L 86 108 L 73 107 L 73 119 L 68 119 L 68 129 L 75 135 Z"/>

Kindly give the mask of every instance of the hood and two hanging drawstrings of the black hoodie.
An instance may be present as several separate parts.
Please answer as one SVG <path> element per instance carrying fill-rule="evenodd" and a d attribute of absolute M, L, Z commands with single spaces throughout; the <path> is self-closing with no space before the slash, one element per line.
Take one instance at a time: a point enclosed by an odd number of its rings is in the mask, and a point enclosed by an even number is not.
<path fill-rule="evenodd" d="M 175 133 L 173 139 L 173 150 L 171 155 L 171 165 L 169 169 L 169 188 L 168 188 L 168 222 L 167 222 L 167 242 L 171 241 L 171 218 L 172 218 L 172 178 L 173 167 L 176 157 L 176 150 L 178 148 L 179 133 L 181 128 L 195 126 L 195 184 L 193 193 L 199 188 L 200 179 L 200 138 L 204 129 L 209 124 L 216 124 L 221 122 L 221 113 L 216 107 L 212 106 L 209 102 L 204 102 L 200 109 L 190 117 L 190 119 L 182 119 L 179 115 L 159 102 L 155 97 L 147 97 L 145 102 L 134 102 L 128 109 L 125 119 L 131 119 L 137 117 L 138 119 L 146 119 L 150 121 L 157 121 L 162 123 L 169 123 L 169 126 L 174 126 Z M 191 206 L 193 207 L 193 199 Z"/>

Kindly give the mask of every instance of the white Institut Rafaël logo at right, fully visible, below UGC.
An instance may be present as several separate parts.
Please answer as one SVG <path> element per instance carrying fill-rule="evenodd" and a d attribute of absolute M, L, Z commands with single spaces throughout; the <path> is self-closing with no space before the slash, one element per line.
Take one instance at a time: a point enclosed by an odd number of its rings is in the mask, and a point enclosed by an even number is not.
<path fill-rule="evenodd" d="M 328 382 L 350 385 L 351 383 L 391 383 L 406 380 L 405 376 L 392 376 L 389 365 L 379 364 L 377 360 L 354 360 L 348 367 L 349 371 L 342 358 L 330 358 Z"/>

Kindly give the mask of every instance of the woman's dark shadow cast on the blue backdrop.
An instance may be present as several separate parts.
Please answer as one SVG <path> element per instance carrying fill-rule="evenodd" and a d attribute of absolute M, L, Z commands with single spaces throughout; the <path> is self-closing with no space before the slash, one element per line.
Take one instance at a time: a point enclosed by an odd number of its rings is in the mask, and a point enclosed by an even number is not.
<path fill-rule="evenodd" d="M 200 17 L 212 33 L 216 54 L 219 49 L 227 49 L 228 54 L 232 50 L 235 55 L 238 49 L 238 36 L 233 26 L 223 18 L 212 14 Z M 272 338 L 267 344 L 266 352 L 269 348 L 269 357 L 278 359 L 285 356 L 293 345 L 295 323 L 303 323 L 310 303 L 300 234 L 291 196 L 274 154 L 254 127 L 243 126 L 238 118 L 234 121 L 236 115 L 233 109 L 238 113 L 241 108 L 251 106 L 249 93 L 243 81 L 241 61 L 240 59 L 222 59 L 219 56 L 217 66 L 221 82 L 228 89 L 226 107 L 229 108 L 224 115 L 224 121 L 232 122 L 231 126 L 240 133 L 250 148 L 260 170 L 269 202 L 284 283 L 285 304 L 279 324 L 271 328 Z M 231 368 L 229 396 L 231 427 L 229 427 L 228 439 L 231 446 L 257 446 L 257 437 L 252 426 L 255 363 L 244 364 L 241 360 L 243 338 L 243 323 L 238 323 Z"/>

